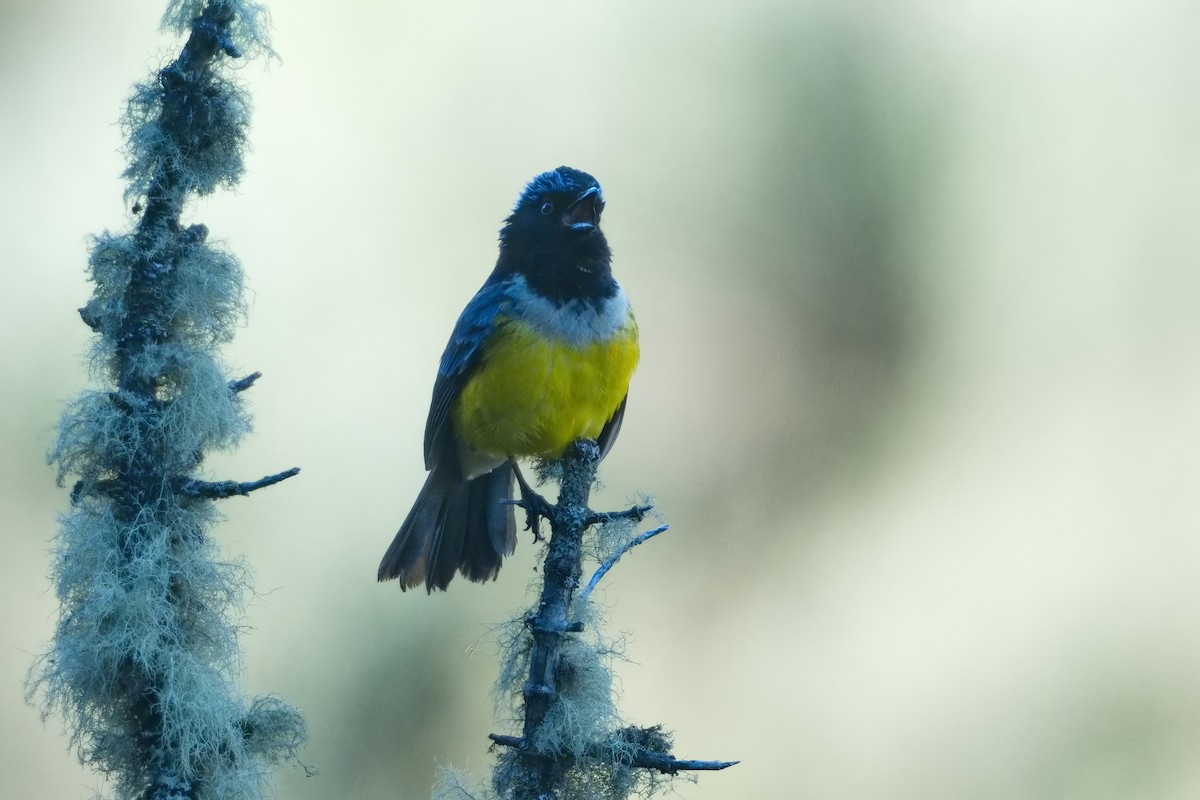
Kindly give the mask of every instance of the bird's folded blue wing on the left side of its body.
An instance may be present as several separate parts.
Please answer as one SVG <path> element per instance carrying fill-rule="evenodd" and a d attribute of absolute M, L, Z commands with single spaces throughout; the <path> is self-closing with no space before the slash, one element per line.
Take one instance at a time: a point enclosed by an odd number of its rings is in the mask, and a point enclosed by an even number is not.
<path fill-rule="evenodd" d="M 425 422 L 425 469 L 433 469 L 446 455 L 457 451 L 450 426 L 450 407 L 470 373 L 479 366 L 484 343 L 496 326 L 496 318 L 510 306 L 511 283 L 491 278 L 475 293 L 458 315 L 450 342 L 442 354 L 433 402 Z"/>

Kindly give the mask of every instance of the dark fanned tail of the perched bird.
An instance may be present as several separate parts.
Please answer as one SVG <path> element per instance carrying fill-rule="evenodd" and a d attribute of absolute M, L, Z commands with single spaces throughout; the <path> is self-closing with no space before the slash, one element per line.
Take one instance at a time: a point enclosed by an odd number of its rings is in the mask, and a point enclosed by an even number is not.
<path fill-rule="evenodd" d="M 464 481 L 452 464 L 438 464 L 379 563 L 379 581 L 401 589 L 425 583 L 445 589 L 456 571 L 491 581 L 516 547 L 516 517 L 504 503 L 512 494 L 512 465 Z"/>

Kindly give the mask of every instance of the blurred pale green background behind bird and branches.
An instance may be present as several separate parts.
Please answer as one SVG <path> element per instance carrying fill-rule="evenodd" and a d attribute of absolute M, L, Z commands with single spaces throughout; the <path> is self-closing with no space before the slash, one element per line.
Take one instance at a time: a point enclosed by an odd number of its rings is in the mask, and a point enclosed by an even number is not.
<path fill-rule="evenodd" d="M 128 224 L 115 121 L 161 4 L 0 6 L 0 796 L 102 786 L 23 703 L 86 383 L 86 236 Z M 281 798 L 486 775 L 499 582 L 377 585 L 442 347 L 524 181 L 605 186 L 644 360 L 598 505 L 673 533 L 610 576 L 630 721 L 742 759 L 684 798 L 1200 796 L 1200 49 L 1194 2 L 272 6 L 235 193 L 208 463 L 257 575 L 245 685 L 300 705 Z"/>

